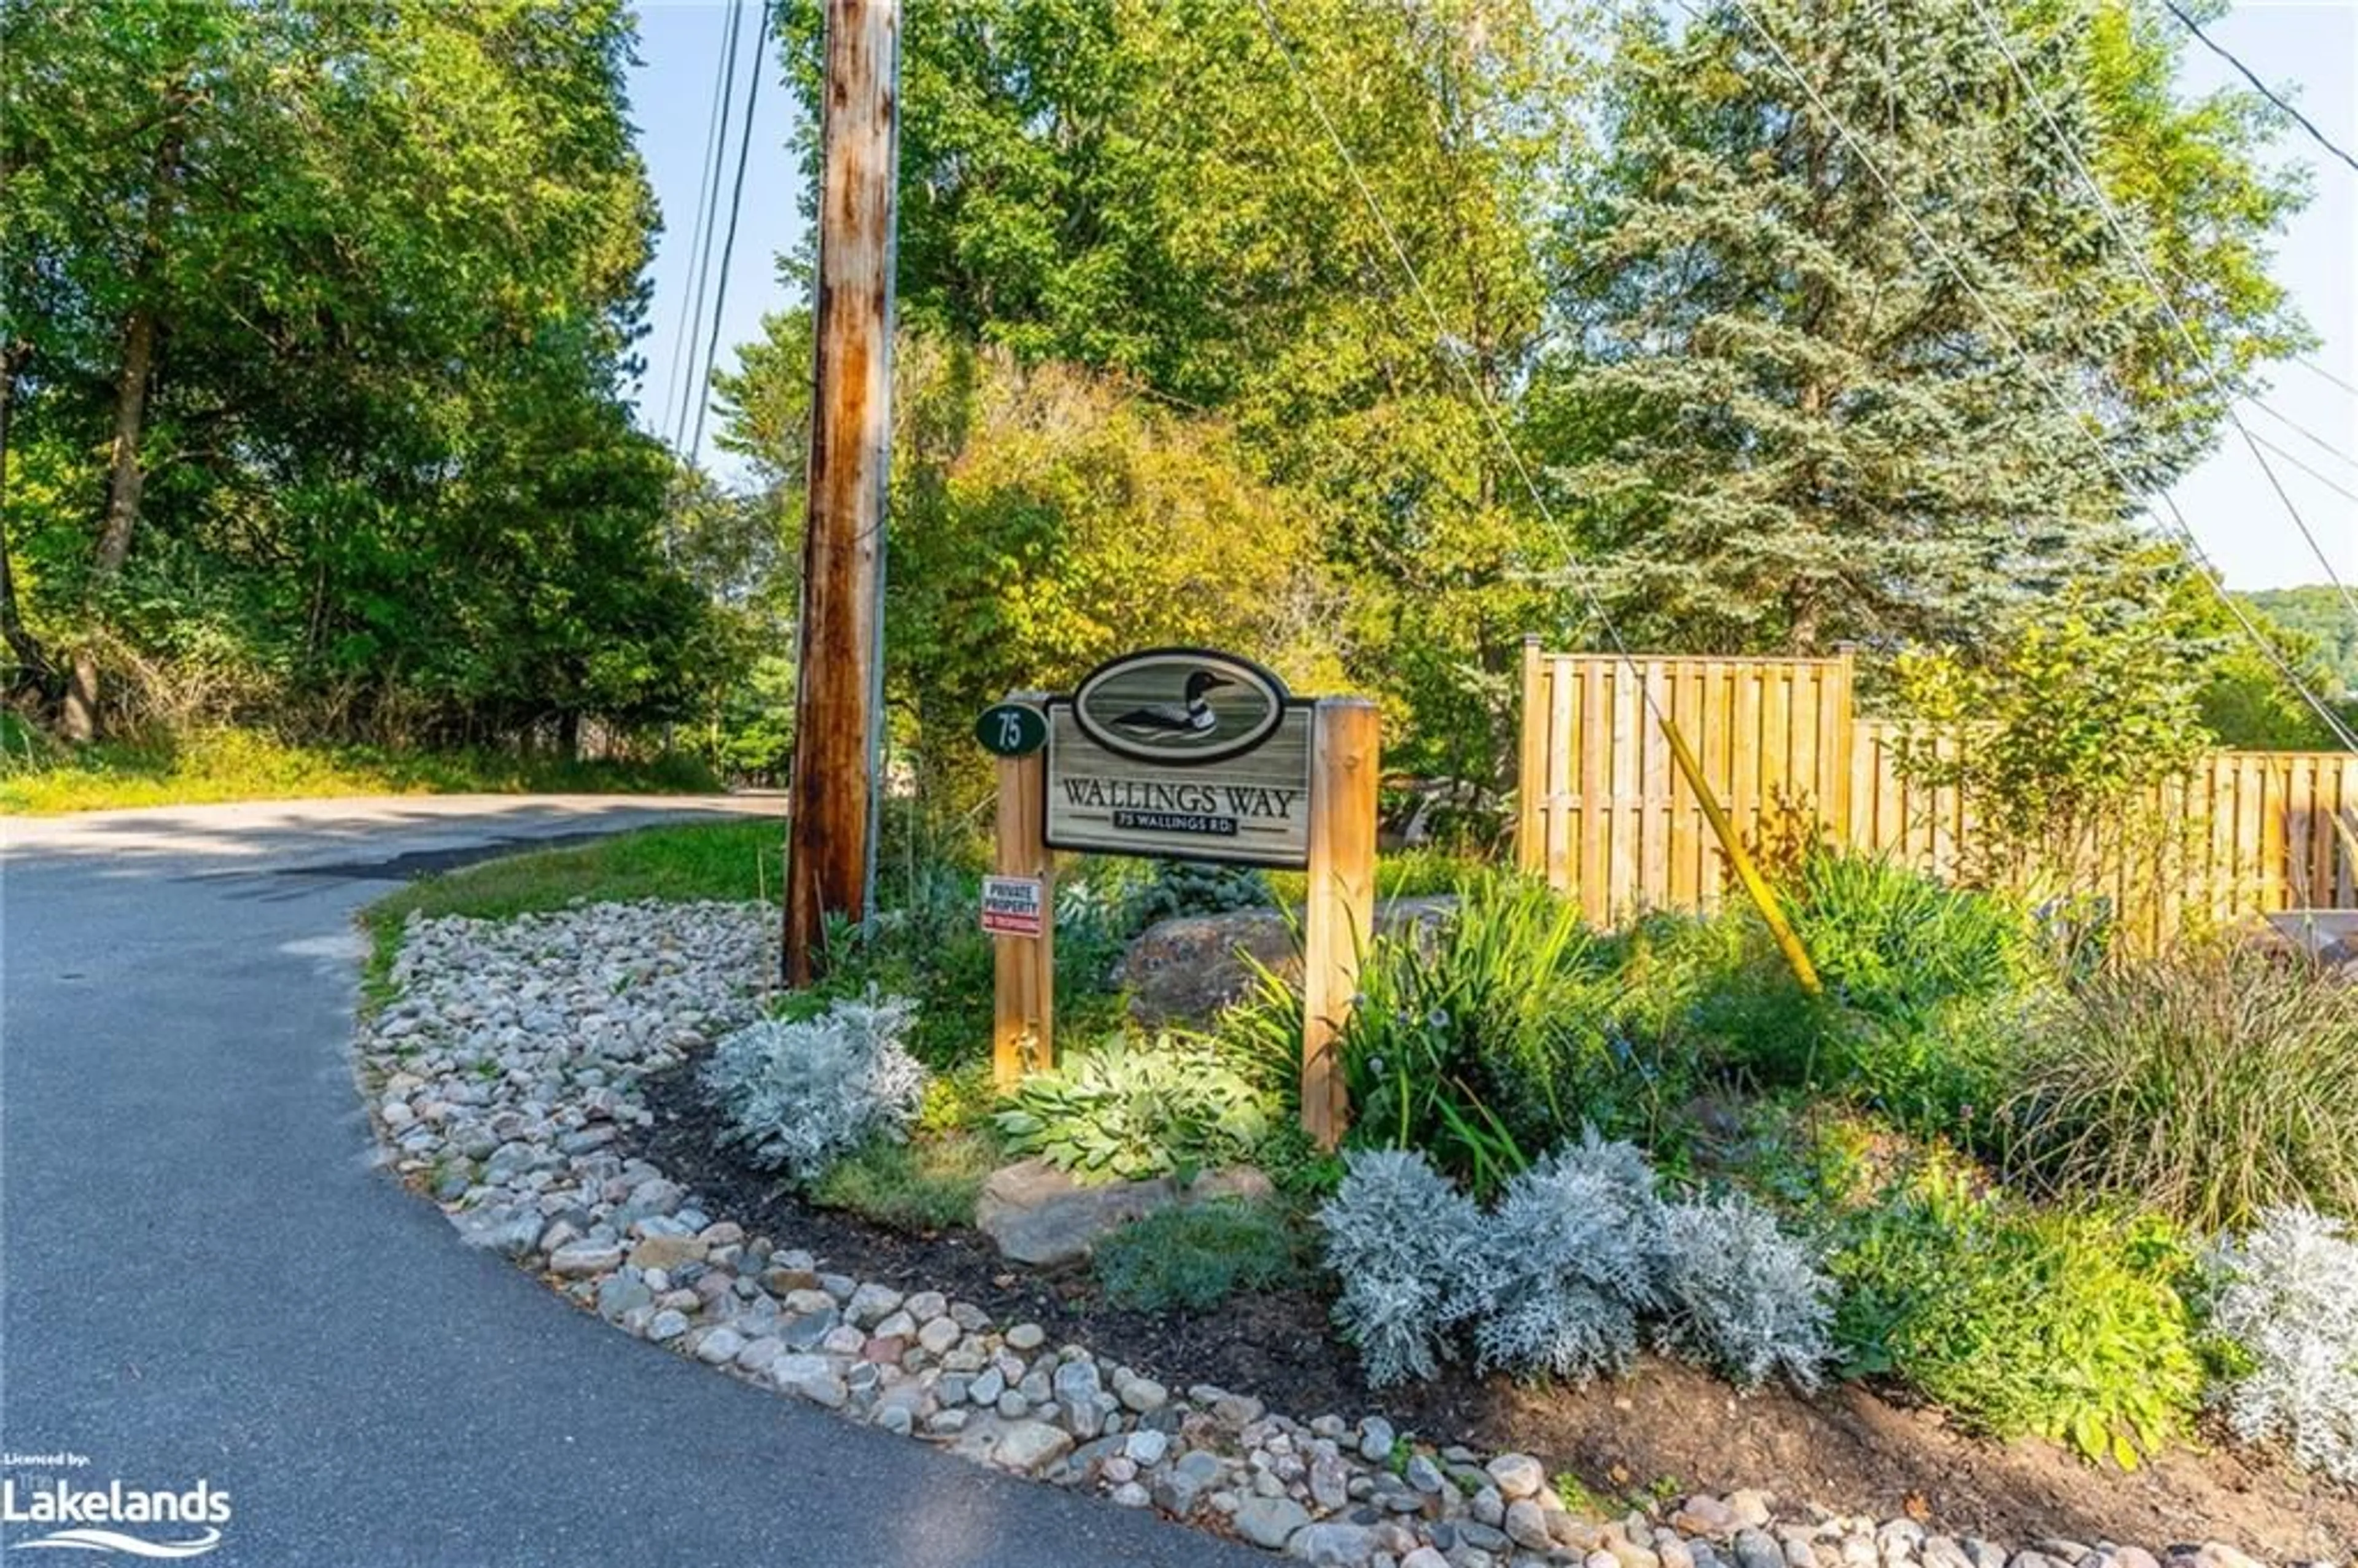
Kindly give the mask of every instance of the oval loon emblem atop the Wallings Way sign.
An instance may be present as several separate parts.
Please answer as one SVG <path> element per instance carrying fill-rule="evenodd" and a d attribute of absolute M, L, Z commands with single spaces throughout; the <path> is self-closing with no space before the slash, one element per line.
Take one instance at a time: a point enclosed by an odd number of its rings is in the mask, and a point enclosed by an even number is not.
<path fill-rule="evenodd" d="M 1073 693 L 1073 719 L 1115 757 L 1196 766 L 1269 740 L 1285 703 L 1285 684 L 1250 658 L 1148 648 L 1092 670 Z"/>

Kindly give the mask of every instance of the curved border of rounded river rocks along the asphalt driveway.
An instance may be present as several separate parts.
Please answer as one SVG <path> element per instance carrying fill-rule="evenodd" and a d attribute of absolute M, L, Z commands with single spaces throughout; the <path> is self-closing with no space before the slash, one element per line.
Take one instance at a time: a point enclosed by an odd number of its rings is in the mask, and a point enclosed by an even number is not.
<path fill-rule="evenodd" d="M 1431 1448 L 1379 1415 L 1309 1422 L 1184 1391 L 997 1325 L 969 1302 L 858 1280 L 747 1236 L 615 1144 L 646 1075 L 750 1021 L 771 913 L 601 903 L 507 922 L 413 915 L 356 1070 L 394 1172 L 474 1245 L 585 1311 L 726 1375 L 950 1452 L 1160 1509 L 1335 1568 L 2259 1568 L 2207 1542 L 2155 1556 L 2007 1551 L 1792 1509 L 1757 1490 L 1578 1518 L 1530 1455 Z M 2316 1568 L 2325 1568 L 2318 1563 Z"/>

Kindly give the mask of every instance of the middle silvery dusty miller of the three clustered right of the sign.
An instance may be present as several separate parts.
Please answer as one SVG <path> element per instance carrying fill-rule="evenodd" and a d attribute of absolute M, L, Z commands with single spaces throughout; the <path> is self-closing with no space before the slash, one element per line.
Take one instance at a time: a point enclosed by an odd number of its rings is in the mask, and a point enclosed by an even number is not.
<path fill-rule="evenodd" d="M 1662 1200 L 1646 1155 L 1585 1129 L 1507 1184 L 1457 1313 L 1474 1318 L 1483 1368 L 1587 1382 L 1636 1353 L 1660 1278 Z"/>

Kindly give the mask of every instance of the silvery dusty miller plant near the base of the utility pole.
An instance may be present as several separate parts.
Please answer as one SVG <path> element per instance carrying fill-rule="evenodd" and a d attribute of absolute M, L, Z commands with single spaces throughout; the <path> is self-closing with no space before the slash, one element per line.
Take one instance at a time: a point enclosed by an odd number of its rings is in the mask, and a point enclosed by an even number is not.
<path fill-rule="evenodd" d="M 924 1094 L 924 1068 L 901 1045 L 913 1019 L 915 1002 L 870 995 L 722 1037 L 703 1068 L 729 1118 L 722 1137 L 797 1181 L 868 1139 L 901 1137 Z"/>

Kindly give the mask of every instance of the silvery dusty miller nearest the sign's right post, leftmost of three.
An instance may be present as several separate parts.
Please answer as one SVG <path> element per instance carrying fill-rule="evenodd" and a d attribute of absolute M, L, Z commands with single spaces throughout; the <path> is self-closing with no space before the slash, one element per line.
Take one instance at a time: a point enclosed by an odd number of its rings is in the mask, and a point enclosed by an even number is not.
<path fill-rule="evenodd" d="M 1344 1155 L 1344 1179 L 1318 1210 L 1325 1261 L 1342 1278 L 1335 1323 L 1358 1346 L 1368 1382 L 1431 1377 L 1448 1356 L 1455 1285 L 1481 1210 L 1422 1153 Z"/>

